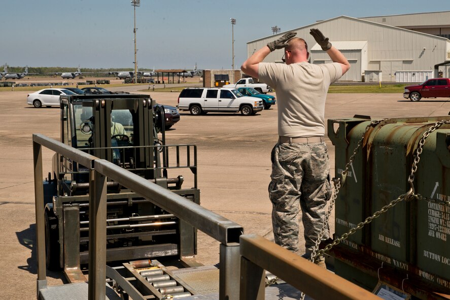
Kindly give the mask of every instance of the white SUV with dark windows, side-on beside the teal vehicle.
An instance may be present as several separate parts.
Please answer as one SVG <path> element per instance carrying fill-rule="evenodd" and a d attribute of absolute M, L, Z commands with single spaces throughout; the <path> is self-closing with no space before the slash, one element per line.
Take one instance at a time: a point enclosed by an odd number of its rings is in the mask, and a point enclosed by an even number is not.
<path fill-rule="evenodd" d="M 263 109 L 262 100 L 241 94 L 234 88 L 185 88 L 178 97 L 178 109 L 200 115 L 207 112 L 238 112 L 250 116 Z"/>

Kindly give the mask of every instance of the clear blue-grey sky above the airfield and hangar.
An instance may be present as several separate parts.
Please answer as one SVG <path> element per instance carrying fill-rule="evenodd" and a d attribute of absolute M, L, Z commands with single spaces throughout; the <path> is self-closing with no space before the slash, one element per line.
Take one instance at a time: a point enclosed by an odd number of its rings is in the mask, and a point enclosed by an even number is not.
<path fill-rule="evenodd" d="M 370 17 L 450 11 L 422 0 L 141 0 L 136 7 L 139 69 L 231 69 L 247 42 L 345 15 Z M 0 3 L 0 65 L 134 69 L 130 0 L 22 0 Z M 236 19 L 232 26 L 230 18 Z M 413 22 L 413 20 L 411 20 Z M 326 34 L 326 32 L 324 32 Z M 329 37 L 332 41 L 332 37 Z"/>

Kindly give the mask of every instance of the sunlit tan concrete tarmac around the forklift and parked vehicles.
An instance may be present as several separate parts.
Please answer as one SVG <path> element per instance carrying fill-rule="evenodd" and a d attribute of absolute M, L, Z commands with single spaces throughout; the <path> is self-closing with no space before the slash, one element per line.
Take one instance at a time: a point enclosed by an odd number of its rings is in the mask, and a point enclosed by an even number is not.
<path fill-rule="evenodd" d="M 177 105 L 179 93 L 149 92 L 160 104 Z M 123 87 L 111 90 L 124 90 Z M 0 290 L 4 299 L 36 298 L 36 238 L 31 135 L 39 133 L 59 140 L 59 109 L 34 109 L 26 104 L 28 92 L 0 92 Z M 418 103 L 401 94 L 329 94 L 326 119 L 369 115 L 372 119 L 446 116 L 450 98 L 423 99 Z M 209 113 L 181 120 L 166 131 L 168 144 L 198 147 L 198 187 L 201 205 L 255 233 L 273 240 L 271 204 L 267 186 L 270 151 L 278 139 L 277 106 L 255 116 Z M 329 147 L 334 176 L 334 147 Z M 53 153 L 44 150 L 44 177 L 51 171 Z M 186 172 L 186 171 L 180 171 Z M 184 175 L 184 174 L 180 174 Z M 334 217 L 330 219 L 334 229 Z M 303 244 L 300 238 L 300 244 Z M 205 265 L 219 261 L 219 243 L 198 235 L 197 260 Z M 48 272 L 49 285 L 61 284 L 61 273 Z"/>

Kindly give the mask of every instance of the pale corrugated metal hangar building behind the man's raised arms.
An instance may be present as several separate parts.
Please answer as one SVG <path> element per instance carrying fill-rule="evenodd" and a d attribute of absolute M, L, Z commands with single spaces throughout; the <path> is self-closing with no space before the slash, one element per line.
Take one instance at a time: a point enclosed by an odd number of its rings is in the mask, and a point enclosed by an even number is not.
<path fill-rule="evenodd" d="M 351 64 L 341 81 L 422 82 L 432 77 L 450 76 L 447 65 L 436 66 L 450 63 L 450 40 L 447 39 L 450 12 L 417 15 L 420 17 L 339 16 L 289 31 L 297 32 L 297 37 L 306 41 L 311 63 L 331 60 L 309 35 L 309 29 L 318 28 L 329 37 Z M 248 57 L 286 32 L 248 42 Z M 439 34 L 443 37 L 437 36 Z M 275 50 L 264 61 L 281 63 L 282 56 L 282 49 Z"/>

